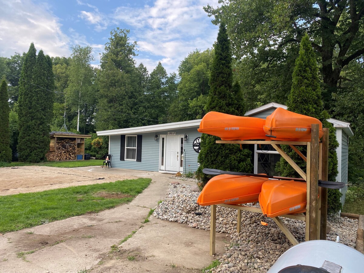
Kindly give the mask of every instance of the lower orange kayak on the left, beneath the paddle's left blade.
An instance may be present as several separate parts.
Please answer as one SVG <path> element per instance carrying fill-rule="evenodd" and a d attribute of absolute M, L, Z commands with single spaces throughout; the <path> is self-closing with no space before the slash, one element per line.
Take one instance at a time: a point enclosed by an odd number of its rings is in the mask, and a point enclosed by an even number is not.
<path fill-rule="evenodd" d="M 264 177 L 220 174 L 211 178 L 203 187 L 197 204 L 210 206 L 258 202 L 262 185 L 266 181 L 268 178 Z"/>

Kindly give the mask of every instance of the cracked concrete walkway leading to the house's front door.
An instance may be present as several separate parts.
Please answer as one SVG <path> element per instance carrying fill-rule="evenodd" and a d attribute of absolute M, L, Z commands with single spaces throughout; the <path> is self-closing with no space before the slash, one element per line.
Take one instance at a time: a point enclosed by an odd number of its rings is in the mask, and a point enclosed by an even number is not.
<path fill-rule="evenodd" d="M 0 272 L 200 272 L 213 261 L 209 232 L 153 216 L 143 223 L 150 209 L 165 198 L 169 183 L 175 181 L 170 174 L 75 169 L 152 178 L 152 182 L 129 204 L 3 234 Z M 230 240 L 226 234 L 217 234 L 218 253 L 223 252 L 225 240 Z"/>

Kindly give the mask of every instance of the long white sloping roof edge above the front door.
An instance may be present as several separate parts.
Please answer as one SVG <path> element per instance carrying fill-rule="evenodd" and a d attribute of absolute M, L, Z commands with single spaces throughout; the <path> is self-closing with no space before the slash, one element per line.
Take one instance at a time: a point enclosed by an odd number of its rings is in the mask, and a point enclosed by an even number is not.
<path fill-rule="evenodd" d="M 196 120 L 187 120 L 181 122 L 172 122 L 172 123 L 149 125 L 149 126 L 98 131 L 96 133 L 97 135 L 125 135 L 125 134 L 135 134 L 135 133 L 161 132 L 166 130 L 195 128 L 199 127 L 200 123 L 201 119 L 196 119 Z"/>

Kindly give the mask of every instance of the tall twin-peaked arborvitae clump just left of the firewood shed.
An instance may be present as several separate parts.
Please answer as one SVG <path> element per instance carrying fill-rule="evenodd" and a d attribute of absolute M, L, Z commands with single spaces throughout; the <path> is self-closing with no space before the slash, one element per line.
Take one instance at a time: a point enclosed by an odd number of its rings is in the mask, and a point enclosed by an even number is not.
<path fill-rule="evenodd" d="M 26 82 L 21 81 L 20 85 L 17 146 L 19 160 L 34 163 L 44 161 L 49 149 L 53 90 L 48 88 L 54 87 L 54 79 L 49 79 L 51 63 L 42 50 L 36 58 L 35 53 L 31 44 L 21 72 L 21 79 Z"/>

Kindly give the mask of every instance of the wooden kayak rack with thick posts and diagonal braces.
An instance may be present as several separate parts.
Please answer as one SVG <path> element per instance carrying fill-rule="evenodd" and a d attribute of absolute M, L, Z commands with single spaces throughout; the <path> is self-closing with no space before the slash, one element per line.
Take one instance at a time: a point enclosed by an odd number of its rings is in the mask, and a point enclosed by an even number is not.
<path fill-rule="evenodd" d="M 329 129 L 324 128 L 322 141 L 318 139 L 318 124 L 311 124 L 311 141 L 216 141 L 216 143 L 230 144 L 270 144 L 276 151 L 293 167 L 297 173 L 307 182 L 307 206 L 306 215 L 285 214 L 280 217 L 299 219 L 306 222 L 305 240 L 326 240 L 327 228 L 327 188 L 318 187 L 318 179 L 328 179 L 328 152 L 329 152 Z M 306 173 L 281 149 L 280 145 L 289 145 L 304 161 L 307 162 Z M 305 157 L 295 146 L 306 146 L 307 157 Z M 317 198 L 317 196 L 319 196 Z M 252 211 L 262 213 L 260 208 L 244 205 L 211 205 L 210 218 L 210 255 L 215 254 L 216 234 L 216 206 L 230 207 L 238 210 L 237 232 L 241 232 L 241 212 Z M 273 218 L 278 227 L 287 236 L 288 240 L 297 245 L 298 241 L 284 225 L 279 217 Z"/>

